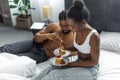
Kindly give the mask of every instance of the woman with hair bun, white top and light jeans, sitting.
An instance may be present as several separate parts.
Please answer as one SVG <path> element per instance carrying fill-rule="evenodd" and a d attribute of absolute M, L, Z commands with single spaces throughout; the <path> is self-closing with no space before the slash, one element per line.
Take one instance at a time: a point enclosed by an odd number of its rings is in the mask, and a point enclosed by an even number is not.
<path fill-rule="evenodd" d="M 75 1 L 68 11 L 67 23 L 74 31 L 73 45 L 78 60 L 65 67 L 49 70 L 40 80 L 96 80 L 98 75 L 99 44 L 97 31 L 88 25 L 89 11 L 82 1 Z"/>

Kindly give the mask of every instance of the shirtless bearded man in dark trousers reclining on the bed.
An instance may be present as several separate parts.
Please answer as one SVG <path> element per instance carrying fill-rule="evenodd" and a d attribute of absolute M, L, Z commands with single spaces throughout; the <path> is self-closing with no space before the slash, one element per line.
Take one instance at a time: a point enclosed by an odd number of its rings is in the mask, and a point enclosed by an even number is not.
<path fill-rule="evenodd" d="M 48 25 L 47 28 L 35 34 L 35 45 L 32 46 L 30 52 L 17 54 L 18 52 L 21 52 L 19 50 L 22 50 L 24 48 L 23 46 L 20 46 L 18 51 L 14 51 L 15 49 L 11 49 L 11 46 L 7 46 L 7 50 L 5 50 L 6 46 L 3 46 L 1 49 L 2 52 L 15 52 L 17 55 L 29 56 L 30 58 L 36 60 L 37 63 L 39 63 L 47 60 L 50 57 L 55 56 L 54 50 L 60 47 L 61 41 L 64 49 L 71 49 L 73 45 L 73 32 L 71 32 L 71 28 L 67 25 L 66 14 L 66 11 L 60 12 L 59 23 L 51 23 L 50 25 Z M 26 48 L 30 47 L 28 45 L 26 45 Z"/>

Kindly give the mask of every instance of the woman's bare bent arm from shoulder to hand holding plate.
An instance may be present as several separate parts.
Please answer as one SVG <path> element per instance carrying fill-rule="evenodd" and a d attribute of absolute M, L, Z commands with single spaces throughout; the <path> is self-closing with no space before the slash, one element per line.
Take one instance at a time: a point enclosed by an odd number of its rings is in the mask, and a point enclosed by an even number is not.
<path fill-rule="evenodd" d="M 93 34 L 90 39 L 90 46 L 91 46 L 91 52 L 90 52 L 90 59 L 83 60 L 82 62 L 71 62 L 67 64 L 66 66 L 70 67 L 88 67 L 88 66 L 94 66 L 98 64 L 99 60 L 99 54 L 100 54 L 100 39 L 98 34 Z"/>

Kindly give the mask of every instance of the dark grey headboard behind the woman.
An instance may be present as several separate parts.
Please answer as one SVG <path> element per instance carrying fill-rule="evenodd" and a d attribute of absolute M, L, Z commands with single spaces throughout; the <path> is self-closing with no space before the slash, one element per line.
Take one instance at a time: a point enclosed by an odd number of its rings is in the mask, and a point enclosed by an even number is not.
<path fill-rule="evenodd" d="M 89 24 L 98 31 L 120 32 L 120 0 L 84 0 L 90 10 Z"/>

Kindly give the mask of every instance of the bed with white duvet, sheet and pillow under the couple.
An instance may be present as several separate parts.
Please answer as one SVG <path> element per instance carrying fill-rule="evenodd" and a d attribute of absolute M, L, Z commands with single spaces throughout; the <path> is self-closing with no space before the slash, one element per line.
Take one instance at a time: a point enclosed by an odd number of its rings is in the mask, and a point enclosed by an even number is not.
<path fill-rule="evenodd" d="M 119 80 L 120 79 L 120 32 L 102 31 L 100 33 L 100 59 L 98 80 Z M 2 56 L 2 57 L 1 57 Z M 30 80 L 31 77 L 43 74 L 50 66 L 49 61 L 36 64 L 34 60 L 13 54 L 0 54 L 0 65 L 7 63 L 7 57 L 14 60 L 11 64 L 0 66 L 0 80 Z M 75 59 L 74 56 L 72 59 Z M 3 59 L 3 60 L 1 60 Z M 2 62 L 3 61 L 3 62 Z M 19 66 L 17 66 L 19 65 Z M 11 67 L 11 69 L 9 69 Z M 4 75 L 4 76 L 3 76 Z"/>

